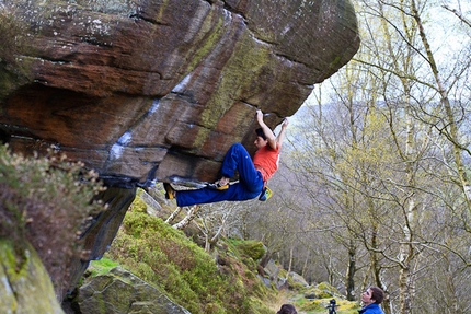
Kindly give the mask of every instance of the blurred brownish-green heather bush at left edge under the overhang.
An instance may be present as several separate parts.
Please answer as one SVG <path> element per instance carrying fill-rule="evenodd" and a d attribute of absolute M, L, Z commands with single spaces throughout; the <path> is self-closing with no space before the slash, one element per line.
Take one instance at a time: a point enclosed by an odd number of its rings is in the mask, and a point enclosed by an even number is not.
<path fill-rule="evenodd" d="M 38 254 L 59 287 L 66 275 L 57 260 L 67 264 L 80 254 L 77 233 L 103 209 L 92 201 L 102 190 L 96 174 L 83 173 L 81 163 L 55 154 L 24 158 L 0 146 L 0 237 L 14 243 L 19 264 L 26 240 L 41 247 Z"/>

